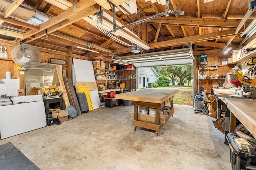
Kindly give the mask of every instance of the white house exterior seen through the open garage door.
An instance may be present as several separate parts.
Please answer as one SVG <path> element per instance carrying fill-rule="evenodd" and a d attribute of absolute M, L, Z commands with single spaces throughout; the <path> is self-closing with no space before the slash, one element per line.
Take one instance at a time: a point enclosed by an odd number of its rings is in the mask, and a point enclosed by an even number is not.
<path fill-rule="evenodd" d="M 153 67 L 137 68 L 138 71 L 138 81 L 137 87 L 139 89 L 148 87 L 148 83 L 155 83 L 159 77 Z"/>

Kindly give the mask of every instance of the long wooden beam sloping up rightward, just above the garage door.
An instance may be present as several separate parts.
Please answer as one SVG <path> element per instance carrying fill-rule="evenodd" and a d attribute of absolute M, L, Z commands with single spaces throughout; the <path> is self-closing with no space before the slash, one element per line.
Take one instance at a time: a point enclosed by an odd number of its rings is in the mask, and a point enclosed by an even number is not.
<path fill-rule="evenodd" d="M 190 36 L 190 37 L 184 37 L 184 38 L 177 38 L 174 40 L 150 43 L 149 45 L 150 45 L 150 49 L 154 49 L 154 48 L 178 45 L 185 42 L 202 42 L 207 40 L 214 40 L 218 37 L 224 38 L 224 37 L 230 37 L 230 36 L 239 36 L 241 34 L 242 32 L 235 33 L 234 29 L 230 29 L 230 30 L 212 32 L 212 33 L 198 35 L 198 36 Z"/>

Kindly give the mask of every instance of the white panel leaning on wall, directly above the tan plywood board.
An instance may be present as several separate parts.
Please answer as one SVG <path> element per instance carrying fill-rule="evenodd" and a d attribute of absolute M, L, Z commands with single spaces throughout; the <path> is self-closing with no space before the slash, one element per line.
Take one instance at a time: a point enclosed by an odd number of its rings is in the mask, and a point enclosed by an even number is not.
<path fill-rule="evenodd" d="M 77 82 L 95 81 L 92 61 L 73 59 Z"/>

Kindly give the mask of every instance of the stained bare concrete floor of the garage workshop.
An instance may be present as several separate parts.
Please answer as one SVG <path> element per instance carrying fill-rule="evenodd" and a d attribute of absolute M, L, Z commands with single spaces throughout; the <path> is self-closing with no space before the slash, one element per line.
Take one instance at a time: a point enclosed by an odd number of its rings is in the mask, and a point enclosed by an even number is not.
<path fill-rule="evenodd" d="M 158 136 L 133 130 L 133 106 L 100 108 L 70 119 L 0 140 L 12 142 L 42 170 L 136 169 L 228 170 L 230 148 L 214 118 L 174 105 L 175 113 Z"/>

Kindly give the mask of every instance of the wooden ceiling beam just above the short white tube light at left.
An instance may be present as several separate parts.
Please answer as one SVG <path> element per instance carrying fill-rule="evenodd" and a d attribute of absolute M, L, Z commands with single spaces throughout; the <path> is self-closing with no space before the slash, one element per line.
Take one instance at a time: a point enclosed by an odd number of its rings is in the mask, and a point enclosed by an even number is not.
<path fill-rule="evenodd" d="M 89 43 L 89 42 L 86 42 L 86 41 L 83 41 L 83 40 L 79 40 L 79 39 L 77 39 L 77 38 L 73 38 L 73 37 L 70 37 L 70 36 L 67 36 L 67 35 L 64 35 L 64 34 L 60 34 L 60 33 L 58 33 L 58 32 L 52 32 L 52 33 L 50 33 L 50 35 L 56 36 L 56 37 L 58 37 L 58 38 L 62 38 L 62 39 L 64 39 L 64 40 L 68 40 L 68 41 L 71 41 L 71 42 L 79 43 L 79 44 L 81 44 L 81 45 L 86 45 L 86 46 L 88 46 L 88 43 Z M 91 44 L 92 44 L 92 43 L 91 43 Z M 106 52 L 108 52 L 108 53 L 112 53 L 112 52 L 113 52 L 113 51 L 110 50 L 110 49 L 105 49 L 105 48 L 102 48 L 102 47 L 100 47 L 100 46 L 98 46 L 98 45 L 95 45 L 95 44 L 92 44 L 92 48 L 99 49 L 99 50 L 102 50 L 102 51 L 106 51 Z"/>

